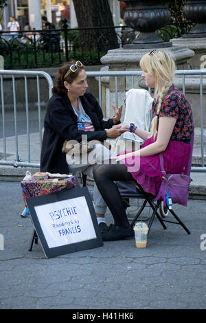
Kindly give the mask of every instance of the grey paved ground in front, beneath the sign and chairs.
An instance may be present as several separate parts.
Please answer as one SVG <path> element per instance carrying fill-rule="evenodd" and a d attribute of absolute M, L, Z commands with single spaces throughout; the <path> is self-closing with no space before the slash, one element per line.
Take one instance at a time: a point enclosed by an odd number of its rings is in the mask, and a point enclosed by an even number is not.
<path fill-rule="evenodd" d="M 0 182 L 0 191 L 0 309 L 206 308 L 206 201 L 174 208 L 190 235 L 155 221 L 146 249 L 132 239 L 47 259 L 39 243 L 28 252 L 33 227 L 20 216 L 20 184 Z"/>

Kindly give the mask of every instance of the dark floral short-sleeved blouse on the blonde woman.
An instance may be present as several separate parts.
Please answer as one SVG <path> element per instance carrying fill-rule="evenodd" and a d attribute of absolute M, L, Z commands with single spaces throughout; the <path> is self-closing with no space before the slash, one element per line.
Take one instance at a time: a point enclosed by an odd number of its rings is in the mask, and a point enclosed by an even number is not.
<path fill-rule="evenodd" d="M 152 117 L 157 115 L 157 102 L 152 104 Z M 190 103 L 179 89 L 170 87 L 161 104 L 159 117 L 176 118 L 176 124 L 172 131 L 170 140 L 181 140 L 190 143 L 192 132 L 194 131 L 194 123 L 192 120 L 192 109 Z M 158 126 L 157 126 L 158 127 Z"/>

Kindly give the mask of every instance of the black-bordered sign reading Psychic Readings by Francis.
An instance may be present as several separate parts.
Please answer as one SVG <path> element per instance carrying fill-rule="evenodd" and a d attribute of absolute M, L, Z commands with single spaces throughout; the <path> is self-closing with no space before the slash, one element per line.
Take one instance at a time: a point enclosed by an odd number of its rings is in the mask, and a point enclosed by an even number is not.
<path fill-rule="evenodd" d="M 31 197 L 26 202 L 47 258 L 103 245 L 87 187 Z"/>

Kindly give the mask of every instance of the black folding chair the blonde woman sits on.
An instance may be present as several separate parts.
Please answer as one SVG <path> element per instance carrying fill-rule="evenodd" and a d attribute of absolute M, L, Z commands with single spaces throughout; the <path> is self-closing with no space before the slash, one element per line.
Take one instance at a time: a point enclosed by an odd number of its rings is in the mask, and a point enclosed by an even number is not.
<path fill-rule="evenodd" d="M 190 157 L 188 160 L 188 168 L 187 168 L 187 176 L 190 176 L 191 172 L 191 166 L 192 166 L 192 151 L 193 151 L 193 143 L 194 143 L 194 132 L 192 133 L 192 138 L 191 138 L 191 149 L 190 149 Z M 125 198 L 128 197 L 133 197 L 137 199 L 144 199 L 144 202 L 142 203 L 141 207 L 139 208 L 137 215 L 133 219 L 131 225 L 134 226 L 135 222 L 141 215 L 141 212 L 144 210 L 146 207 L 146 204 L 148 203 L 150 207 L 152 208 L 152 216 L 150 217 L 150 221 L 148 223 L 148 234 L 150 232 L 150 229 L 152 227 L 152 223 L 155 219 L 155 216 L 157 216 L 157 219 L 161 223 L 163 229 L 165 230 L 167 227 L 165 226 L 164 222 L 169 222 L 169 223 L 175 223 L 181 225 L 183 229 L 187 232 L 187 234 L 190 234 L 190 230 L 185 226 L 185 224 L 179 219 L 179 216 L 176 215 L 174 210 L 169 209 L 167 206 L 164 207 L 164 211 L 172 214 L 176 221 L 168 221 L 165 219 L 162 219 L 162 214 L 161 216 L 159 215 L 158 209 L 160 208 L 162 204 L 162 200 L 159 199 L 157 202 L 155 201 L 155 196 L 146 192 L 140 185 L 139 183 L 136 182 L 124 182 L 124 181 L 118 181 L 116 182 L 117 188 L 119 189 L 119 192 L 121 194 L 122 199 L 124 200 Z M 163 216 L 164 217 L 164 216 Z"/>

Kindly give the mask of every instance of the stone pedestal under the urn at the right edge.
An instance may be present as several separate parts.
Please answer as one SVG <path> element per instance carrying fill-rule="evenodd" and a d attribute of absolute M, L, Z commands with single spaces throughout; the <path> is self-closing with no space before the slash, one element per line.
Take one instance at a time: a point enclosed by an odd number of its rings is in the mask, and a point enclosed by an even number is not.
<path fill-rule="evenodd" d="M 170 42 L 175 46 L 186 46 L 194 51 L 195 55 L 188 60 L 191 69 L 206 68 L 206 38 L 180 37 L 171 39 Z"/>

